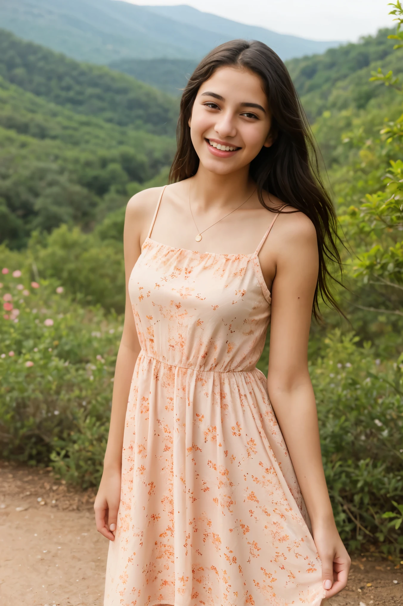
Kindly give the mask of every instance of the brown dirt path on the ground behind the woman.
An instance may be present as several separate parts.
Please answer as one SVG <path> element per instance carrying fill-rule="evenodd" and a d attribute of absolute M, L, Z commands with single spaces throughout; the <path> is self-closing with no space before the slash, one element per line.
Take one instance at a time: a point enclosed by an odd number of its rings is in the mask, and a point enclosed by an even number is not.
<path fill-rule="evenodd" d="M 108 546 L 95 529 L 94 496 L 50 470 L 0 464 L 1 606 L 102 605 Z M 403 606 L 402 565 L 353 558 L 348 587 L 329 606 L 370 604 Z"/>

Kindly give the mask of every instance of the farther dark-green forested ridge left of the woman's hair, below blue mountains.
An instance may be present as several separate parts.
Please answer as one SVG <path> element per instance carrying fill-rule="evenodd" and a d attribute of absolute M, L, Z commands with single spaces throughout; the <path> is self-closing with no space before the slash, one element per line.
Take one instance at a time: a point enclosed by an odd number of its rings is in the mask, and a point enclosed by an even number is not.
<path fill-rule="evenodd" d="M 159 135 L 175 133 L 170 96 L 107 67 L 79 63 L 0 30 L 0 75 L 76 113 Z"/>

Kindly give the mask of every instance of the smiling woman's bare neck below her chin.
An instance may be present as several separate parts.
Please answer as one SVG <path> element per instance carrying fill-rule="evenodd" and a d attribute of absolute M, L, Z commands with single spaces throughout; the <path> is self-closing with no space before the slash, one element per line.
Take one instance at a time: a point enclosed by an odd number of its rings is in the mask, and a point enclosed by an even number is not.
<path fill-rule="evenodd" d="M 200 164 L 190 184 L 192 205 L 201 211 L 212 206 L 223 210 L 232 208 L 247 199 L 252 187 L 249 166 L 236 173 L 218 175 Z"/>

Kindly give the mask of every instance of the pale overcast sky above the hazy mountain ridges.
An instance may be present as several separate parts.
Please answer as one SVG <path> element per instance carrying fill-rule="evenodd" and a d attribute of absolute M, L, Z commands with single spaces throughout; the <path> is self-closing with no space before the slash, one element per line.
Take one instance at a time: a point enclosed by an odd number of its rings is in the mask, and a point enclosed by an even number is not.
<path fill-rule="evenodd" d="M 355 42 L 391 27 L 388 0 L 126 0 L 132 4 L 189 4 L 250 25 L 313 40 Z"/>

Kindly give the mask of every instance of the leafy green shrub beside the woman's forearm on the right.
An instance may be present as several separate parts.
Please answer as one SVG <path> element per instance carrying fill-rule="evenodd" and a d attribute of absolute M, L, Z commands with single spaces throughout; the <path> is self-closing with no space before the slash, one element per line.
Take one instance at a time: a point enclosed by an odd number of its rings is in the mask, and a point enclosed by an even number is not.
<path fill-rule="evenodd" d="M 382 515 L 403 503 L 403 355 L 381 361 L 357 341 L 336 331 L 310 368 L 325 474 L 350 550 L 381 544 L 398 555 L 403 536 Z"/>

